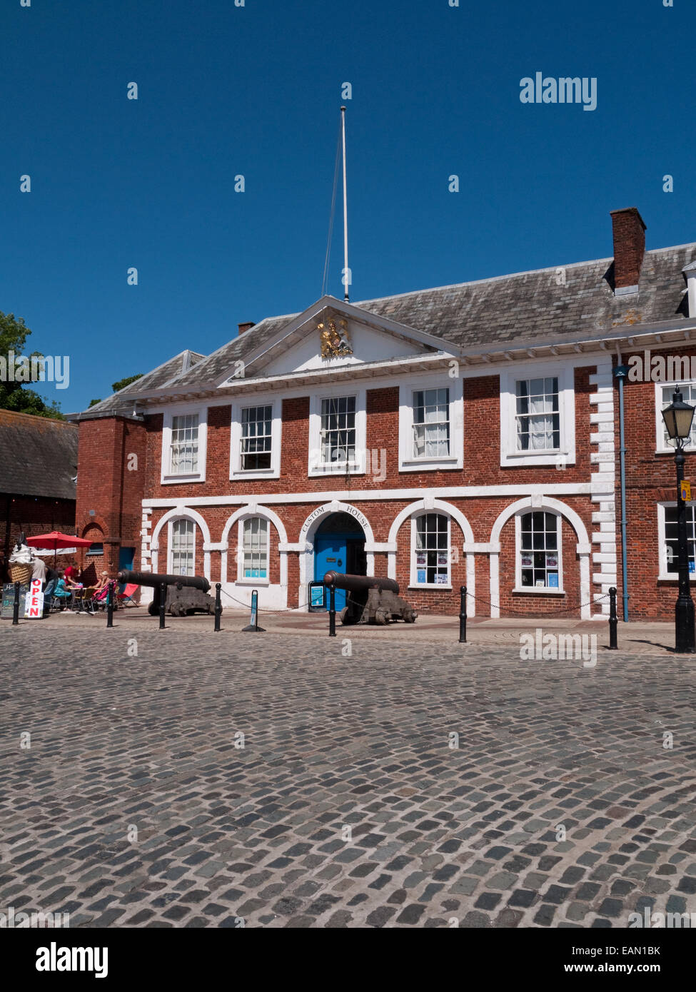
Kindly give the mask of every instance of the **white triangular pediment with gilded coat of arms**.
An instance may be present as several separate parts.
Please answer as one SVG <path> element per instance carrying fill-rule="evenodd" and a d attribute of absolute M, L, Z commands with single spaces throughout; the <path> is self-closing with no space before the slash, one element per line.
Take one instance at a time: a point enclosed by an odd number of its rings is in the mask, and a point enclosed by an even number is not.
<path fill-rule="evenodd" d="M 340 354 L 331 353 L 340 334 Z M 324 341 L 323 341 L 324 332 Z M 449 353 L 451 345 L 432 334 L 406 327 L 388 318 L 324 297 L 294 317 L 270 341 L 245 359 L 245 376 L 266 378 L 293 373 L 340 369 L 373 362 L 388 362 L 421 355 Z M 220 383 L 227 385 L 230 380 Z"/>

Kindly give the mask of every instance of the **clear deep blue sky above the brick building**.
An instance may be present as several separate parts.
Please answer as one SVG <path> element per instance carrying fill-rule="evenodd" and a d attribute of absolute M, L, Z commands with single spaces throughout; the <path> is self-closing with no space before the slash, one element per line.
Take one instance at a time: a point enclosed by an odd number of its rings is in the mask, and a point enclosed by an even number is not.
<path fill-rule="evenodd" d="M 320 296 L 344 81 L 353 301 L 611 256 L 618 207 L 696 240 L 693 0 L 461 4 L 3 0 L 0 310 L 70 355 L 43 395 Z M 522 104 L 535 71 L 596 76 L 597 110 Z M 337 223 L 337 297 L 342 265 Z"/>

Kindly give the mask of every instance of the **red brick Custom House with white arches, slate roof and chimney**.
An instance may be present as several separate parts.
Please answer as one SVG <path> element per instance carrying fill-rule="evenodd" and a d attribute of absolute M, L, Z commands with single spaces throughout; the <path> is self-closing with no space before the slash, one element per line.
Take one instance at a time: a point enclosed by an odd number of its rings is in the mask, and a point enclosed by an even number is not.
<path fill-rule="evenodd" d="M 397 578 L 421 611 L 456 613 L 466 584 L 471 615 L 606 616 L 622 582 L 615 368 L 646 347 L 690 354 L 696 330 L 696 244 L 645 251 L 635 208 L 612 219 L 613 258 L 324 297 L 177 355 L 78 416 L 80 534 L 112 572 L 204 573 L 265 608 L 305 608 L 336 568 Z M 675 597 L 661 389 L 625 385 L 641 616 Z"/>

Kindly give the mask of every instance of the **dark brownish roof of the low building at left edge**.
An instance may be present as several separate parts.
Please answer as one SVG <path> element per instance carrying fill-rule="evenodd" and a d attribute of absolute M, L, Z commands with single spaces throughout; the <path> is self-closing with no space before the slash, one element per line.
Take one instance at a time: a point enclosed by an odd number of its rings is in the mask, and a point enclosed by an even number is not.
<path fill-rule="evenodd" d="M 74 499 L 77 428 L 0 410 L 0 492 Z"/>

